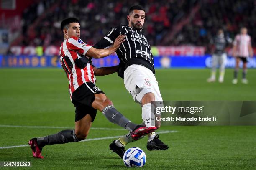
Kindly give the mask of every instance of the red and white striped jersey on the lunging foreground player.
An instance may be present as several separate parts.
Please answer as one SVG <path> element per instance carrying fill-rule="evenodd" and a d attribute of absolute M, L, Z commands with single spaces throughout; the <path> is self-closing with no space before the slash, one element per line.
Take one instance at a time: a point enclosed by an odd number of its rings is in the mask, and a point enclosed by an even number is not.
<path fill-rule="evenodd" d="M 61 66 L 67 74 L 69 80 L 69 93 L 72 93 L 85 82 L 95 84 L 95 76 L 92 62 L 88 62 L 84 69 L 80 69 L 75 64 L 75 60 L 81 56 L 85 56 L 91 46 L 87 45 L 80 38 L 70 37 L 63 41 L 59 53 Z M 66 59 L 65 59 L 66 58 Z"/>

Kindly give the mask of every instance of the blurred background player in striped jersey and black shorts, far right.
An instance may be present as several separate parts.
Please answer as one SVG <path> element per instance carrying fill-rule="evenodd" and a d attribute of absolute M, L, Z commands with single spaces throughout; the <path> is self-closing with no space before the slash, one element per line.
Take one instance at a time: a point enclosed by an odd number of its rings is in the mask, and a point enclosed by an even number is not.
<path fill-rule="evenodd" d="M 247 73 L 247 58 L 250 55 L 253 56 L 253 49 L 251 47 L 251 36 L 247 34 L 247 28 L 242 27 L 240 34 L 236 35 L 234 43 L 233 43 L 233 57 L 236 58 L 236 68 L 234 71 L 234 79 L 232 81 L 233 84 L 237 84 L 237 74 L 239 70 L 240 60 L 243 61 L 243 76 L 242 83 L 248 84 L 248 80 L 246 79 Z"/>

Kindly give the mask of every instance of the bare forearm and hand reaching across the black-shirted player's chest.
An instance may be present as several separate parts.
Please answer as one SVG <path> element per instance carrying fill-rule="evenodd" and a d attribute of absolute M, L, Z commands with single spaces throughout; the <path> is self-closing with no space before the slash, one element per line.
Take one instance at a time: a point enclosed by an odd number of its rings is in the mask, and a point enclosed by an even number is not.
<path fill-rule="evenodd" d="M 90 56 L 92 58 L 103 58 L 106 56 L 109 56 L 110 54 L 114 53 L 121 43 L 125 41 L 125 35 L 120 34 L 116 39 L 113 44 L 113 47 L 110 47 L 108 49 L 97 49 L 97 48 L 90 48 L 87 53 L 85 54 L 86 56 Z"/>

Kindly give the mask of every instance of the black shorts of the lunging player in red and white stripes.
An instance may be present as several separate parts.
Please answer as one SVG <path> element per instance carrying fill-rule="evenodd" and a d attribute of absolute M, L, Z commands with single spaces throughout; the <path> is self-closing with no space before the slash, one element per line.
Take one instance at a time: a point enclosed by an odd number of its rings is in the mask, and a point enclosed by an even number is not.
<path fill-rule="evenodd" d="M 100 90 L 92 82 L 86 82 L 82 84 L 76 91 L 72 93 L 72 103 L 75 109 L 75 122 L 81 120 L 86 114 L 90 114 L 92 122 L 96 117 L 97 110 L 92 107 L 92 103 L 95 100 L 94 94 L 100 94 L 103 91 Z"/>

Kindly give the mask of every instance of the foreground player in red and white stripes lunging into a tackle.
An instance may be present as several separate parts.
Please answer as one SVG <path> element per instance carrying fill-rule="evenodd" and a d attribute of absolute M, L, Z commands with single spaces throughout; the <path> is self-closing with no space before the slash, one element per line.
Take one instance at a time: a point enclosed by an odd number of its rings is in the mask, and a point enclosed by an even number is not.
<path fill-rule="evenodd" d="M 77 18 L 67 18 L 61 22 L 64 41 L 60 47 L 61 65 L 69 81 L 69 94 L 75 107 L 75 128 L 62 130 L 56 134 L 33 138 L 29 141 L 33 156 L 41 155 L 45 145 L 79 142 L 89 133 L 97 110 L 101 111 L 112 123 L 130 131 L 133 140 L 151 133 L 156 127 L 145 127 L 134 124 L 118 112 L 100 88 L 95 86 L 95 75 L 103 76 L 117 71 L 117 66 L 97 69 L 92 65 L 91 58 L 102 58 L 114 53 L 125 41 L 124 35 L 118 35 L 113 47 L 95 49 L 80 39 L 80 25 Z"/>

